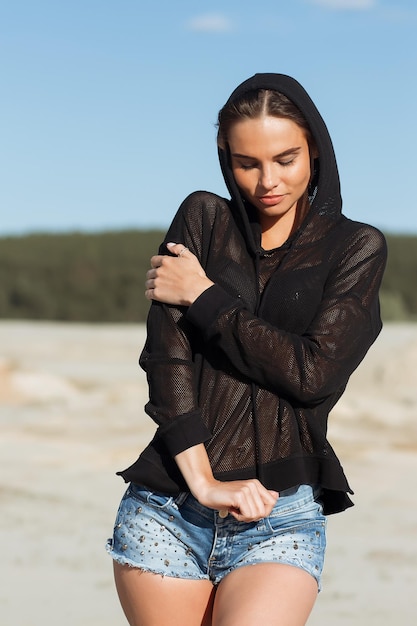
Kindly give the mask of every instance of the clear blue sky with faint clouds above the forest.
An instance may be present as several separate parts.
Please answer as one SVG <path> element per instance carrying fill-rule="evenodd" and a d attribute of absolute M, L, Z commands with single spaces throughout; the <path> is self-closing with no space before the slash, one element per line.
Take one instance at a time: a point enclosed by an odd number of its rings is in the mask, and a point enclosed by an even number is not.
<path fill-rule="evenodd" d="M 166 228 L 226 195 L 216 115 L 255 72 L 316 102 L 349 217 L 417 233 L 415 0 L 2 0 L 0 235 Z"/>

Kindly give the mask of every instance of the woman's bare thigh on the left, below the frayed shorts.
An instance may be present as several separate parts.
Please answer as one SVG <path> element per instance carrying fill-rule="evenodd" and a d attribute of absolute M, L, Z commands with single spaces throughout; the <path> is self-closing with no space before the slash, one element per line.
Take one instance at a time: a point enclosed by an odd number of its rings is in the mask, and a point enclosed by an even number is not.
<path fill-rule="evenodd" d="M 120 603 L 130 626 L 211 626 L 208 580 L 160 576 L 114 562 Z"/>

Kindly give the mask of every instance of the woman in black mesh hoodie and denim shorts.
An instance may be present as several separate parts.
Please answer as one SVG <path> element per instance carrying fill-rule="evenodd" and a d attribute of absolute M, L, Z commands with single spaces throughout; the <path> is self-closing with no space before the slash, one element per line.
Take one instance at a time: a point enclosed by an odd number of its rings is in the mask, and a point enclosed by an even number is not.
<path fill-rule="evenodd" d="M 156 435 L 108 550 L 131 625 L 301 626 L 352 491 L 327 418 L 381 330 L 383 236 L 341 213 L 327 128 L 257 74 L 219 113 L 231 200 L 186 198 L 151 260 Z M 250 565 L 250 567 L 249 567 Z"/>

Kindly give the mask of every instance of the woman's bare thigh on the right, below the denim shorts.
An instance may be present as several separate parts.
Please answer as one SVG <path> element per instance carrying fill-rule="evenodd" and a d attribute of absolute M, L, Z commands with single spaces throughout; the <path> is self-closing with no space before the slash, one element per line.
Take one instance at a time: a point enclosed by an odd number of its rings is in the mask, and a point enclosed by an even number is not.
<path fill-rule="evenodd" d="M 316 580 L 299 567 L 247 565 L 219 584 L 212 626 L 304 626 L 317 593 Z"/>

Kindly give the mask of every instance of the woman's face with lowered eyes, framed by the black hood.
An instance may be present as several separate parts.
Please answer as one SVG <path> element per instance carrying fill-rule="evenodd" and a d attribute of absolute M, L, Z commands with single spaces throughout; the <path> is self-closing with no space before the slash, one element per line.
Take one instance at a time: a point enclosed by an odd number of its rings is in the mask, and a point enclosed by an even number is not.
<path fill-rule="evenodd" d="M 304 130 L 292 120 L 264 116 L 233 124 L 228 142 L 236 183 L 258 209 L 261 225 L 295 219 L 310 180 Z"/>

